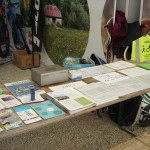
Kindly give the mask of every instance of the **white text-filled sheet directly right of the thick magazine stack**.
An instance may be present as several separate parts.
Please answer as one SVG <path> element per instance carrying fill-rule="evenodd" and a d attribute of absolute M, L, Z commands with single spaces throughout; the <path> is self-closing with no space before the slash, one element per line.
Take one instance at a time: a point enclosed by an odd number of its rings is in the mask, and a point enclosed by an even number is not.
<path fill-rule="evenodd" d="M 97 105 L 116 100 L 118 96 L 106 88 L 104 83 L 91 83 L 78 89 L 83 94 L 91 97 Z"/>

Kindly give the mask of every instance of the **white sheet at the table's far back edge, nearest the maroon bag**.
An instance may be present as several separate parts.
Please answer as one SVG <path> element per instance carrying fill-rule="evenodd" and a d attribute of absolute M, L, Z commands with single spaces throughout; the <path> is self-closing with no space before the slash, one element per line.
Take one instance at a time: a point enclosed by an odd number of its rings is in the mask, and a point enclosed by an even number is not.
<path fill-rule="evenodd" d="M 105 66 L 113 68 L 114 70 L 121 70 L 129 67 L 134 67 L 135 65 L 126 61 L 117 61 L 110 64 L 105 64 Z"/>

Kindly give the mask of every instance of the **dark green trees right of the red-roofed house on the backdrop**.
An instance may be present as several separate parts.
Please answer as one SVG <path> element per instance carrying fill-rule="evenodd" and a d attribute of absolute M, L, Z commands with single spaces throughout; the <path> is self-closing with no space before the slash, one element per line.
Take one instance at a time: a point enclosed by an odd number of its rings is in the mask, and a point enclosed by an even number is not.
<path fill-rule="evenodd" d="M 87 0 L 46 0 L 45 4 L 54 4 L 59 8 L 64 27 L 89 30 Z"/>

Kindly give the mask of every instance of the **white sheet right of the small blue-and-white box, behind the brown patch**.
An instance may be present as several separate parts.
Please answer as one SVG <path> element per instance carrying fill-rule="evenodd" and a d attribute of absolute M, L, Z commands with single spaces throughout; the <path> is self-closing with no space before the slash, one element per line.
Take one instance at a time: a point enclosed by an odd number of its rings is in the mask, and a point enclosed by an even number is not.
<path fill-rule="evenodd" d="M 114 70 L 108 67 L 105 67 L 103 65 L 99 65 L 99 66 L 93 66 L 93 67 L 88 67 L 88 68 L 82 68 L 82 69 L 79 69 L 78 71 L 81 72 L 82 79 L 84 79 L 84 78 L 94 77 L 100 74 L 112 72 Z"/>

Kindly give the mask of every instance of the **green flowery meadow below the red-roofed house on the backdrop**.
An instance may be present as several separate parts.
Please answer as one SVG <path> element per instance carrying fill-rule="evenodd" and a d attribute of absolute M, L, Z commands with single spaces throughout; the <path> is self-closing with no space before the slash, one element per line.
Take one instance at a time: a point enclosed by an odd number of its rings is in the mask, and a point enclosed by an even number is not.
<path fill-rule="evenodd" d="M 62 65 L 67 56 L 82 57 L 88 41 L 88 31 L 44 28 L 44 46 L 55 64 Z"/>

